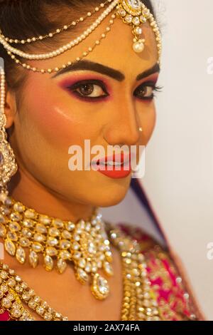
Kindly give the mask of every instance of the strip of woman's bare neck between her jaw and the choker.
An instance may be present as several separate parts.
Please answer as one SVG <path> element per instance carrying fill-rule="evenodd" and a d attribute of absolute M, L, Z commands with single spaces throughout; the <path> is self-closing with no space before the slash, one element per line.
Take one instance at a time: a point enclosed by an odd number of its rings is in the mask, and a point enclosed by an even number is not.
<path fill-rule="evenodd" d="M 94 212 L 94 206 L 85 205 L 48 189 L 21 167 L 9 183 L 9 195 L 14 200 L 22 202 L 26 207 L 33 208 L 36 212 L 61 220 L 87 220 Z"/>

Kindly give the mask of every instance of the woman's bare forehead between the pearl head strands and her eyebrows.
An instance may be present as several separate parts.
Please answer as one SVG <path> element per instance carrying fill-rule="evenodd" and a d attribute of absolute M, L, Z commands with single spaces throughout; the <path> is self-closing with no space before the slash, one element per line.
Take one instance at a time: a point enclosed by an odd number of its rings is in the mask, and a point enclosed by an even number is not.
<path fill-rule="evenodd" d="M 115 19 L 111 31 L 101 44 L 88 55 L 88 59 L 112 66 L 124 73 L 137 73 L 138 69 L 151 68 L 158 61 L 157 43 L 151 26 L 142 25 L 145 48 L 141 53 L 133 51 L 132 27 Z"/>

